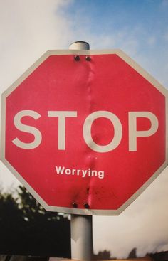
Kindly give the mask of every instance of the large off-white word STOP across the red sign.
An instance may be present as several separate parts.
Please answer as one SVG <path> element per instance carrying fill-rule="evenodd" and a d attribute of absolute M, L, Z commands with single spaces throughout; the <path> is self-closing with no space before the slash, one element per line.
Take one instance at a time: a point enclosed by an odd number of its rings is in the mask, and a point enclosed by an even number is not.
<path fill-rule="evenodd" d="M 23 124 L 21 119 L 23 117 L 32 117 L 33 119 L 39 119 L 41 114 L 33 110 L 21 110 L 14 117 L 14 125 L 16 129 L 19 129 L 21 132 L 27 132 L 33 134 L 33 142 L 22 142 L 19 138 L 13 139 L 13 143 L 21 149 L 35 149 L 41 144 L 42 135 L 39 129 L 32 127 L 27 124 Z M 57 117 L 58 118 L 58 150 L 65 150 L 65 134 L 66 134 L 66 119 L 69 117 L 77 117 L 76 111 L 48 111 L 48 117 Z M 98 118 L 107 118 L 110 120 L 114 127 L 114 136 L 112 141 L 106 145 L 99 145 L 93 141 L 91 134 L 91 127 L 95 119 Z M 147 118 L 150 122 L 149 129 L 146 130 L 137 130 L 137 118 Z M 157 132 L 159 123 L 155 114 L 152 112 L 128 112 L 128 144 L 129 151 L 137 151 L 137 138 L 138 137 L 149 137 Z M 122 139 L 122 123 L 120 119 L 108 111 L 97 111 L 93 112 L 86 117 L 83 123 L 83 139 L 85 143 L 96 152 L 108 152 L 117 148 Z"/>

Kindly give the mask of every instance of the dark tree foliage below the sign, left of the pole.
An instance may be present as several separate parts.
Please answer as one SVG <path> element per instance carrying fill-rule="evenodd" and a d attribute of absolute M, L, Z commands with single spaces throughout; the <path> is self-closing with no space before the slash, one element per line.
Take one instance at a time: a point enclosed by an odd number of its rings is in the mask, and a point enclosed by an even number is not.
<path fill-rule="evenodd" d="M 0 194 L 0 252 L 70 257 L 68 216 L 45 211 L 22 186 L 16 194 Z"/>

